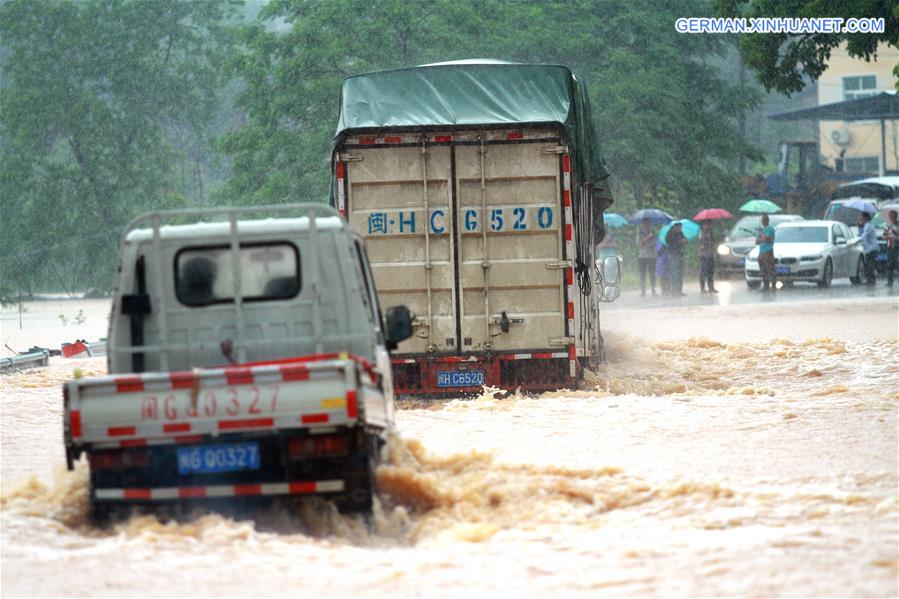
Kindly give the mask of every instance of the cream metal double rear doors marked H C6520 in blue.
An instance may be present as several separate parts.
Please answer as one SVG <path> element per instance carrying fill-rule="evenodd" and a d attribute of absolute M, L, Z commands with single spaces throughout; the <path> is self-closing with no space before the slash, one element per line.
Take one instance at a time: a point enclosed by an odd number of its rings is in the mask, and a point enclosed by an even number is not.
<path fill-rule="evenodd" d="M 416 315 L 399 353 L 567 344 L 562 152 L 553 131 L 347 139 L 338 185 L 381 305 Z"/>

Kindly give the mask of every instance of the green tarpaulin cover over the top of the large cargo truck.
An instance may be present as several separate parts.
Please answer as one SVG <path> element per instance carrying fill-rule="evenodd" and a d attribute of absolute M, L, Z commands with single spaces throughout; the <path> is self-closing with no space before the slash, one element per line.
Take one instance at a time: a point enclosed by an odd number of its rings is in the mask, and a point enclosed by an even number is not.
<path fill-rule="evenodd" d="M 608 176 L 587 92 L 567 68 L 498 60 L 443 62 L 347 77 L 336 137 L 387 128 L 558 123 L 577 169 L 608 205 Z M 600 199 L 597 197 L 596 199 Z M 604 207 L 604 206 L 603 206 Z M 600 208 L 602 209 L 602 208 Z"/>

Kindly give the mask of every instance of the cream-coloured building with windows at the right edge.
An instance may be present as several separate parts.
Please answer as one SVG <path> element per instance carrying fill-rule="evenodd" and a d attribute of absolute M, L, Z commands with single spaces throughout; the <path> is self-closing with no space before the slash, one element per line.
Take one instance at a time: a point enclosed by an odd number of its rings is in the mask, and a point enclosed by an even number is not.
<path fill-rule="evenodd" d="M 899 63 L 899 49 L 881 45 L 877 59 L 866 62 L 846 52 L 845 44 L 834 48 L 827 70 L 818 79 L 818 104 L 853 100 L 881 92 L 896 92 L 893 67 Z M 883 151 L 880 121 L 821 121 L 819 147 L 821 164 L 847 175 L 899 174 L 899 122 L 884 121 Z"/>

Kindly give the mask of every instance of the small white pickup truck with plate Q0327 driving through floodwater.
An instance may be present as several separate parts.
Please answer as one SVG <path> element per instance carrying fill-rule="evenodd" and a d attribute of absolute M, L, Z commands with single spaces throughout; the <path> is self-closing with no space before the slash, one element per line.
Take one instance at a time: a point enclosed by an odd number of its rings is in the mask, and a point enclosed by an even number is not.
<path fill-rule="evenodd" d="M 87 455 L 95 520 L 305 494 L 370 509 L 393 426 L 388 349 L 410 318 L 397 306 L 382 326 L 362 240 L 328 206 L 136 219 L 109 374 L 63 387 L 67 462 Z"/>

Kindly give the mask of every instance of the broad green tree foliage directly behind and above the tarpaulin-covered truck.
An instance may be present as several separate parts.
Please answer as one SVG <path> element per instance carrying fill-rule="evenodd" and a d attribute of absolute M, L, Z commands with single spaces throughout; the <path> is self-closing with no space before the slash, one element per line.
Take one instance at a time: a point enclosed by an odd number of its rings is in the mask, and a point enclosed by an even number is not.
<path fill-rule="evenodd" d="M 232 158 L 229 198 L 327 195 L 342 78 L 494 57 L 565 64 L 587 81 L 619 211 L 737 202 L 738 160 L 760 154 L 735 122 L 758 94 L 722 77 L 728 39 L 673 27 L 678 16 L 708 10 L 703 0 L 273 0 L 262 22 L 242 30 L 233 62 L 250 123 L 221 144 Z M 281 27 L 266 27 L 275 22 Z"/>

